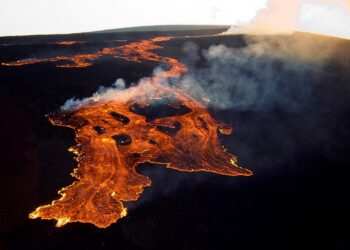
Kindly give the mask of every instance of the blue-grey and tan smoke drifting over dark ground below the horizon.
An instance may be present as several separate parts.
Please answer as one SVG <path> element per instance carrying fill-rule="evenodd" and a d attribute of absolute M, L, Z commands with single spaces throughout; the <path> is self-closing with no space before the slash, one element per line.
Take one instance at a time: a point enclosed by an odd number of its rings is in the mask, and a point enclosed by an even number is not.
<path fill-rule="evenodd" d="M 187 45 L 188 58 L 201 53 L 206 66 L 190 63 L 181 87 L 198 98 L 207 97 L 215 109 L 298 111 L 312 99 L 314 84 L 324 76 L 336 47 L 318 38 L 300 33 L 245 36 L 242 48 L 221 44 L 202 52 Z"/>

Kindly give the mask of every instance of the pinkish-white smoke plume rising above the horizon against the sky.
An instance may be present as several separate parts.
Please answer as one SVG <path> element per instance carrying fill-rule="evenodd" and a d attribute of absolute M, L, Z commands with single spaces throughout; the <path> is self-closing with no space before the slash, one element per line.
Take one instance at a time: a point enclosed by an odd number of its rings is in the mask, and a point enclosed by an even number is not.
<path fill-rule="evenodd" d="M 276 34 L 305 31 L 350 38 L 349 0 L 269 0 L 248 23 L 227 33 Z"/>

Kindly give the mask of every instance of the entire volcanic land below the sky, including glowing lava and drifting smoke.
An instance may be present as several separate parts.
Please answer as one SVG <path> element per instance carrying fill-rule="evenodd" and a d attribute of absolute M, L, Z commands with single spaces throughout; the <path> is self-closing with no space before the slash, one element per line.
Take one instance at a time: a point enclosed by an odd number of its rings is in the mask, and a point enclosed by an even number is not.
<path fill-rule="evenodd" d="M 346 249 L 350 42 L 225 29 L 0 38 L 0 248 Z"/>

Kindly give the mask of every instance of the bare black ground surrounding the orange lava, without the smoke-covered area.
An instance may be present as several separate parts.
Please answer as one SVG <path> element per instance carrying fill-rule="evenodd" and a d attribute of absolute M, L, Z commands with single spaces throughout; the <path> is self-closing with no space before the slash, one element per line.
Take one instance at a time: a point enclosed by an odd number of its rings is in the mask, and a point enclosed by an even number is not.
<path fill-rule="evenodd" d="M 0 62 L 95 51 L 112 39 L 159 35 L 169 34 L 0 38 L 0 44 L 17 44 L 0 46 Z M 77 39 L 91 43 L 64 49 L 47 44 Z M 202 49 L 213 43 L 244 46 L 240 36 L 188 38 L 166 43 L 160 53 L 184 58 L 186 40 Z M 67 151 L 73 131 L 52 126 L 44 115 L 118 77 L 136 82 L 157 65 L 106 57 L 82 69 L 52 63 L 0 66 L 0 249 L 350 249 L 350 42 L 343 41 L 339 50 L 342 57 L 333 58 L 331 74 L 318 80 L 311 104 L 298 112 L 278 106 L 268 112 L 212 110 L 233 124 L 234 134 L 222 142 L 254 176 L 145 164 L 138 170 L 150 176 L 152 187 L 130 204 L 127 217 L 107 229 L 81 223 L 55 228 L 53 221 L 28 219 L 73 181 L 69 173 L 76 165 Z"/>

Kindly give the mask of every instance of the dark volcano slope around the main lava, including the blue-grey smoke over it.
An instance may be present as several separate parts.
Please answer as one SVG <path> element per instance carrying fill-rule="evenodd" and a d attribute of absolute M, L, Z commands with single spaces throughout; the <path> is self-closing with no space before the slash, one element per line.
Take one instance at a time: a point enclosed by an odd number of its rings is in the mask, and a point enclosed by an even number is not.
<path fill-rule="evenodd" d="M 201 32 L 0 39 L 0 61 L 8 63 L 179 36 L 162 42 L 157 54 L 188 67 L 184 90 L 209 97 L 211 116 L 233 127 L 232 135 L 219 135 L 221 143 L 254 172 L 230 178 L 144 163 L 137 172 L 152 180 L 152 188 L 126 204 L 129 215 L 105 231 L 82 224 L 57 231 L 50 221 L 28 220 L 35 207 L 57 199 L 57 190 L 74 181 L 69 173 L 76 163 L 67 151 L 75 145 L 74 134 L 52 126 L 45 114 L 117 78 L 129 87 L 152 76 L 159 63 L 106 55 L 85 68 L 56 67 L 56 62 L 1 65 L 4 249 L 346 246 L 350 43 L 303 33 Z M 301 46 L 305 43 L 309 47 Z"/>

